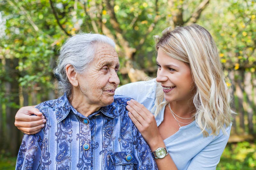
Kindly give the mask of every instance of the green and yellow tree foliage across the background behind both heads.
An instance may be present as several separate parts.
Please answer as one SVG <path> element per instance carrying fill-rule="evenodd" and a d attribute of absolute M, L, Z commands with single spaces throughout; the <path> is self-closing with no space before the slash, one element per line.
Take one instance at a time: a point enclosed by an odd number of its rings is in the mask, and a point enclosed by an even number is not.
<path fill-rule="evenodd" d="M 179 9 L 182 9 L 184 22 L 187 21 L 200 2 L 173 1 L 171 9 L 167 10 L 167 0 L 157 1 L 157 5 L 151 0 L 114 1 L 112 5 L 120 29 L 124 31 L 123 39 L 127 40 L 132 48 L 141 46 L 133 57 L 133 67 L 145 70 L 154 67 L 153 35 L 160 35 L 164 28 L 173 26 L 173 13 Z M 56 0 L 52 1 L 52 5 L 60 25 L 68 34 L 79 31 L 102 33 L 98 23 L 100 20 L 117 39 L 106 3 L 100 0 Z M 255 9 L 256 4 L 253 0 L 211 0 L 197 21 L 214 36 L 221 61 L 229 70 L 246 67 L 252 72 L 255 71 Z M 20 85 L 24 88 L 37 83 L 36 86 L 52 89 L 52 69 L 57 58 L 57 50 L 68 35 L 58 25 L 49 1 L 1 1 L 0 11 L 2 18 L 6 20 L 7 28 L 5 35 L 0 37 L 3 47 L 0 58 L 4 56 L 20 60 L 17 69 L 21 73 Z M 157 18 L 161 19 L 155 22 Z M 94 29 L 92 21 L 96 23 L 98 30 Z M 152 25 L 154 29 L 148 32 Z M 118 44 L 118 41 L 116 42 Z M 120 48 L 117 51 L 121 66 L 124 66 L 126 59 L 123 46 Z M 121 83 L 124 84 L 123 81 Z"/>

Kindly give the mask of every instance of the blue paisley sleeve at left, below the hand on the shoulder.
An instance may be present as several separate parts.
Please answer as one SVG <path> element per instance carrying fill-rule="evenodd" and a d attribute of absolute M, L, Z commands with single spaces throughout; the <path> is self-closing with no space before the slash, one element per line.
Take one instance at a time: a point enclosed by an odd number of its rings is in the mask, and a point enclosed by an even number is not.
<path fill-rule="evenodd" d="M 24 134 L 18 152 L 16 170 L 38 169 L 40 166 L 43 135 L 43 130 L 34 135 Z"/>

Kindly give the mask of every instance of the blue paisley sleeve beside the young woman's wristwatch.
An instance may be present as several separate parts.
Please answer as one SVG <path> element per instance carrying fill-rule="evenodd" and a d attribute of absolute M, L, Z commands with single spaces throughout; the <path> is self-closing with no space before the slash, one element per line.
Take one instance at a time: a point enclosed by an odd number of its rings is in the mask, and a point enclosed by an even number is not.
<path fill-rule="evenodd" d="M 134 153 L 136 159 L 138 160 L 138 164 L 135 165 L 136 169 L 143 170 L 157 170 L 156 161 L 151 154 L 151 150 L 144 140 L 136 126 L 133 126 L 132 130 L 133 138 L 134 138 Z"/>

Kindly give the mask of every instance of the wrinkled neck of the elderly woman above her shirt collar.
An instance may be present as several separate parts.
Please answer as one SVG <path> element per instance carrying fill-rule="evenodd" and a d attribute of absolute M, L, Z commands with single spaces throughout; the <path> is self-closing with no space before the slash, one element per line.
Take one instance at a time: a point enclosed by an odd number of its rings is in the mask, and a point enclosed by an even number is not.
<path fill-rule="evenodd" d="M 93 112 L 100 109 L 101 106 L 91 104 L 88 99 L 85 98 L 83 94 L 77 92 L 76 90 L 71 90 L 71 95 L 69 97 L 69 102 L 71 105 L 85 117 L 90 116 Z"/>

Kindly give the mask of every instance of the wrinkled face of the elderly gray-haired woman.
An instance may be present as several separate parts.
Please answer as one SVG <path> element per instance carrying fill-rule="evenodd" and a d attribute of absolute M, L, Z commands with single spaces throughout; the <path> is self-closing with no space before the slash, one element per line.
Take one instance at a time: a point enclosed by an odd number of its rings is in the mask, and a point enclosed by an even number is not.
<path fill-rule="evenodd" d="M 108 44 L 95 44 L 95 57 L 83 74 L 78 74 L 79 88 L 89 104 L 100 107 L 113 103 L 119 84 L 119 59 L 116 50 Z"/>

